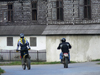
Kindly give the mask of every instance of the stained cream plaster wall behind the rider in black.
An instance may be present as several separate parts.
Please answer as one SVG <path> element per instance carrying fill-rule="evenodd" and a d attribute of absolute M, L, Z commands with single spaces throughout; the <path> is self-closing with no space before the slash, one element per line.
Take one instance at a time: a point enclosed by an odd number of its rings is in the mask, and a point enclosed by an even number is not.
<path fill-rule="evenodd" d="M 57 47 L 61 38 L 72 45 L 70 49 L 71 61 L 85 62 L 100 59 L 100 35 L 66 35 L 66 36 L 47 36 L 46 50 L 47 61 L 60 61 L 60 50 Z"/>

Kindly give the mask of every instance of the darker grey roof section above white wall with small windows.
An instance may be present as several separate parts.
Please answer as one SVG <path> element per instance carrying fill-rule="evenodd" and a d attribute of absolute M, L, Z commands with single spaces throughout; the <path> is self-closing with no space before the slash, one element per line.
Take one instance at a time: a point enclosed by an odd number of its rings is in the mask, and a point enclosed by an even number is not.
<path fill-rule="evenodd" d="M 0 26 L 0 36 L 17 36 L 20 33 L 25 35 L 41 35 L 46 25 L 32 26 Z"/>

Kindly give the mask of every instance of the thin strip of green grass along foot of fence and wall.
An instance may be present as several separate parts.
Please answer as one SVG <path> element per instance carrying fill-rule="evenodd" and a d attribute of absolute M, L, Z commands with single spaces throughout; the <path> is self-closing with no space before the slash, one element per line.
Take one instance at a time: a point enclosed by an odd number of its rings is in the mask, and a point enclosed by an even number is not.
<path fill-rule="evenodd" d="M 71 61 L 71 63 L 76 63 L 74 61 Z M 59 62 L 31 62 L 31 65 L 41 65 L 41 64 L 61 64 Z M 21 61 L 13 61 L 10 63 L 0 63 L 0 65 L 21 65 Z"/>

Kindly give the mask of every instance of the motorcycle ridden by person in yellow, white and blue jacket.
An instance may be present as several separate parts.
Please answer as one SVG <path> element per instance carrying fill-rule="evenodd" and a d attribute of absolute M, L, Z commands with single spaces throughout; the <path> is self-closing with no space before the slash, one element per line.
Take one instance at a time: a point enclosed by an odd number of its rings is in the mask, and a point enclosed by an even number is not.
<path fill-rule="evenodd" d="M 26 69 L 26 66 L 27 66 L 27 69 L 30 70 L 31 69 L 31 66 L 30 66 L 30 64 L 31 64 L 30 55 L 27 54 L 25 52 L 25 50 L 16 50 L 16 52 L 18 52 L 18 51 L 23 51 L 24 52 L 23 59 L 22 59 L 22 68 L 23 68 L 23 70 Z"/>

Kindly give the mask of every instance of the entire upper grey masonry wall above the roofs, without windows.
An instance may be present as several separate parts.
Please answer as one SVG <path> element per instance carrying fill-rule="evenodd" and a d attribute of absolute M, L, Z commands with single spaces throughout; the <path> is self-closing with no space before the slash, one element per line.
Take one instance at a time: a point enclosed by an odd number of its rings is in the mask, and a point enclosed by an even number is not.
<path fill-rule="evenodd" d="M 37 1 L 37 21 L 32 20 L 31 1 L 17 0 L 0 2 L 0 25 L 39 25 L 39 24 L 93 24 L 100 23 L 100 0 L 91 0 L 91 19 L 84 19 L 84 0 L 63 0 L 63 21 L 56 20 L 56 0 Z M 13 3 L 14 21 L 7 22 L 7 3 Z M 23 9 L 23 10 L 22 10 Z"/>

